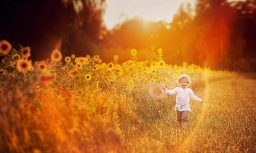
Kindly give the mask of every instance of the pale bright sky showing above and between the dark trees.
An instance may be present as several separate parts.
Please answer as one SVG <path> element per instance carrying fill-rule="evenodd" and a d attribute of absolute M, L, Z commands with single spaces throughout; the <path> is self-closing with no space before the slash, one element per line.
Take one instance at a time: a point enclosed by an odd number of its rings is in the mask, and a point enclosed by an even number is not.
<path fill-rule="evenodd" d="M 195 7 L 196 0 L 106 0 L 106 12 L 103 16 L 105 25 L 112 29 L 114 25 L 126 19 L 140 16 L 144 20 L 172 22 L 181 3 L 191 3 Z M 241 1 L 241 0 L 228 0 Z"/>

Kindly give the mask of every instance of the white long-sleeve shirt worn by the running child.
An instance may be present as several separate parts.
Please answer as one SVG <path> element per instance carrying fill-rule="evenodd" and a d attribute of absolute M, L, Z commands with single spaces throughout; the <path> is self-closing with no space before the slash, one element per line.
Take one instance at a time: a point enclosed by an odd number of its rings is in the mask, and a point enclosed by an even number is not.
<path fill-rule="evenodd" d="M 189 105 L 190 98 L 196 101 L 199 101 L 200 103 L 203 101 L 199 97 L 197 97 L 191 88 L 185 88 L 185 91 L 181 87 L 176 87 L 174 90 L 168 90 L 166 88 L 166 94 L 169 95 L 176 95 L 176 105 L 174 107 L 175 111 L 189 111 L 191 112 L 191 108 Z"/>

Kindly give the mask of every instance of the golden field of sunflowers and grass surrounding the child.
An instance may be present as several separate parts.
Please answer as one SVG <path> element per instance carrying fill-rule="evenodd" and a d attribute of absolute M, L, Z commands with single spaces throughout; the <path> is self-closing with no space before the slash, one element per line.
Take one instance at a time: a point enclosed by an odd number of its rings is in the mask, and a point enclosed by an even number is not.
<path fill-rule="evenodd" d="M 240 91 L 237 73 L 185 62 L 170 65 L 164 62 L 160 48 L 158 61 L 139 61 L 133 49 L 129 51 L 131 59 L 119 63 L 118 55 L 104 62 L 99 55 L 63 57 L 59 50 L 53 50 L 50 59 L 31 61 L 28 46 L 16 50 L 2 40 L 0 47 L 0 152 L 256 150 L 255 96 L 251 94 L 256 82 L 244 83 Z M 176 121 L 175 96 L 154 100 L 148 95 L 153 83 L 175 88 L 181 74 L 191 77 L 190 87 L 206 103 L 191 101 L 193 113 L 185 131 Z M 244 81 L 248 80 L 241 79 Z M 212 82 L 223 86 L 215 84 L 209 89 Z M 233 117 L 222 116 L 222 112 L 234 113 L 238 107 L 226 109 L 222 105 L 228 103 L 221 97 L 229 87 L 251 95 L 243 97 L 250 107 L 243 104 L 245 108 Z M 242 100 L 236 92 L 230 90 L 225 97 Z M 236 100 L 232 103 L 239 104 Z"/>

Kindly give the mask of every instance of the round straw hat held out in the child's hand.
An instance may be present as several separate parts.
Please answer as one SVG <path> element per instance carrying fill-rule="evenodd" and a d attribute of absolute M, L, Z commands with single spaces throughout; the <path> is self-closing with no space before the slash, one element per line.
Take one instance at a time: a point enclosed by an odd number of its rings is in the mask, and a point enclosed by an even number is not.
<path fill-rule="evenodd" d="M 151 84 L 150 87 L 148 87 L 148 94 L 152 99 L 163 99 L 165 94 L 164 94 L 163 86 L 160 84 Z"/>

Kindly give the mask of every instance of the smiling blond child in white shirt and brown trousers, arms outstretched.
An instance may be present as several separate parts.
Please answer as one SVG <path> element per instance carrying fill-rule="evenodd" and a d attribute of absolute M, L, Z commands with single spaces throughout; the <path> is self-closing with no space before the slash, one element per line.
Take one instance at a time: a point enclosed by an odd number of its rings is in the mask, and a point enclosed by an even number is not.
<path fill-rule="evenodd" d="M 177 94 L 174 110 L 177 112 L 177 121 L 179 121 L 179 123 L 183 125 L 183 128 L 186 129 L 189 112 L 191 112 L 189 105 L 190 98 L 199 101 L 200 103 L 203 103 L 204 100 L 194 95 L 191 88 L 188 88 L 188 86 L 191 84 L 191 79 L 189 76 L 185 74 L 180 75 L 179 78 L 177 78 L 176 83 L 179 84 L 180 87 L 176 87 L 174 90 L 168 90 L 167 88 L 163 87 L 163 90 L 169 95 Z"/>

